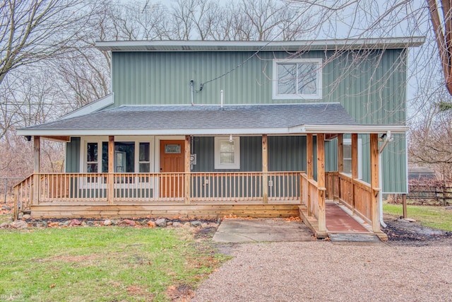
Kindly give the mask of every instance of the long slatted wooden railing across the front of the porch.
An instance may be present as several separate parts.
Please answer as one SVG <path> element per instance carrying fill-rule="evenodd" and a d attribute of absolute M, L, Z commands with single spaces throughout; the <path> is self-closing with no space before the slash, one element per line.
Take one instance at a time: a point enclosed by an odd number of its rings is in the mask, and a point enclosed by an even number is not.
<path fill-rule="evenodd" d="M 36 175 L 36 174 L 35 174 Z M 15 187 L 22 209 L 40 202 L 183 201 L 185 173 L 37 173 Z M 299 172 L 268 172 L 268 200 L 298 200 Z M 262 198 L 263 173 L 189 173 L 194 202 Z M 113 196 L 109 182 L 113 180 Z M 38 183 L 33 183 L 38 180 Z M 38 190 L 38 192 L 33 192 Z M 35 193 L 35 194 L 33 194 Z M 33 200 L 35 197 L 38 200 Z"/>

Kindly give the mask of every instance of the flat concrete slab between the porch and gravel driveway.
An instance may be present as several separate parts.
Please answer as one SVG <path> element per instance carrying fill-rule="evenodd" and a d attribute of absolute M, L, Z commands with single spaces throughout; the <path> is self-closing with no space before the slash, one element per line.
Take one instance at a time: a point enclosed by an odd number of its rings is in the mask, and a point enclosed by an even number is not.
<path fill-rule="evenodd" d="M 285 219 L 225 219 L 213 240 L 220 243 L 311 241 L 312 233 L 301 221 Z"/>

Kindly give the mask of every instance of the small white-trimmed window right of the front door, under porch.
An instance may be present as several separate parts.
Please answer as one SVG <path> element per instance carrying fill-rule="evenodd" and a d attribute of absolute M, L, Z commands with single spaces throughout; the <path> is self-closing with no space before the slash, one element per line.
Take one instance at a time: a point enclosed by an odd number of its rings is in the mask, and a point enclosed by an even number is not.
<path fill-rule="evenodd" d="M 240 168 L 240 137 L 215 137 L 215 169 Z"/>

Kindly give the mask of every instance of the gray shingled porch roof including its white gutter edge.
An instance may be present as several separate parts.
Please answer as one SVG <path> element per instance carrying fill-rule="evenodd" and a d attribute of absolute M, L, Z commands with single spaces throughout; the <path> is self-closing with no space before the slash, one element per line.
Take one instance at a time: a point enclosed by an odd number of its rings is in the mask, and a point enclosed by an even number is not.
<path fill-rule="evenodd" d="M 229 135 L 403 133 L 400 124 L 357 124 L 340 103 L 123 105 L 18 129 L 18 135 Z"/>

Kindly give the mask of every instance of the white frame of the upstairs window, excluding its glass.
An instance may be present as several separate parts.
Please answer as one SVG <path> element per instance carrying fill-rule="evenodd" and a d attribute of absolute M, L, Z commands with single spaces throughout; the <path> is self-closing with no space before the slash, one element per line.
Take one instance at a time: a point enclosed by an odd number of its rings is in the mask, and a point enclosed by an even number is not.
<path fill-rule="evenodd" d="M 317 65 L 317 93 L 315 95 L 278 94 L 278 64 L 313 63 Z M 273 100 L 320 100 L 322 98 L 322 59 L 273 59 Z"/>

